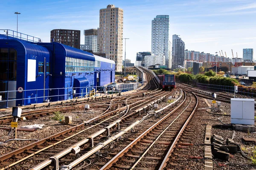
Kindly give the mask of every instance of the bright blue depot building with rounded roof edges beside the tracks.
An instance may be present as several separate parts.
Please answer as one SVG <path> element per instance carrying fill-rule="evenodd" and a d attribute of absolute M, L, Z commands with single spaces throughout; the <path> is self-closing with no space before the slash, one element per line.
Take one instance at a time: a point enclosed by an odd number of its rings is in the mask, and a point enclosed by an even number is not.
<path fill-rule="evenodd" d="M 114 82 L 114 61 L 35 39 L 0 34 L 0 107 L 86 97 Z"/>

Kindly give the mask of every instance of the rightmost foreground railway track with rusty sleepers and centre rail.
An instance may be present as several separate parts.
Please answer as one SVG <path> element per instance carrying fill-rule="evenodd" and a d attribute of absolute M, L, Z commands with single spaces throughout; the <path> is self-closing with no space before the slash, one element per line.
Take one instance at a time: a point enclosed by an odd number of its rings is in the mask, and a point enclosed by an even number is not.
<path fill-rule="evenodd" d="M 119 153 L 108 161 L 100 170 L 106 169 L 148 169 L 165 167 L 180 135 L 191 119 L 198 99 L 194 94 L 186 96 L 175 109 L 168 108 L 165 115 L 154 125 L 145 130 Z M 166 155 L 166 157 L 165 157 Z M 164 165 L 161 165 L 165 162 Z"/>

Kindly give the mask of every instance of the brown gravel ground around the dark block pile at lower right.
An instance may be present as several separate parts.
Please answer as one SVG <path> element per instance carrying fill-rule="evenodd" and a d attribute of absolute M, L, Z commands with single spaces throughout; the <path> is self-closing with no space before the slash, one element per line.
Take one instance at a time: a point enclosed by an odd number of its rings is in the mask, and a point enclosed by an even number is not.
<path fill-rule="evenodd" d="M 211 104 L 212 100 L 207 99 L 207 102 Z M 183 133 L 184 135 L 180 138 L 179 142 L 189 142 L 192 144 L 203 144 L 204 143 L 204 136 L 205 136 L 205 128 L 206 125 L 221 125 L 221 121 L 224 124 L 230 124 L 230 103 L 221 102 L 221 109 L 223 110 L 223 116 L 210 114 L 206 111 L 208 105 L 206 104 L 203 98 L 199 98 L 199 105 L 198 111 L 196 111 L 195 115 L 193 116 L 192 121 L 189 124 L 189 127 L 186 130 L 194 130 L 194 131 L 186 131 Z M 218 118 L 221 117 L 221 121 Z M 200 120 L 200 121 L 199 121 Z M 186 136 L 187 134 L 192 136 Z M 212 134 L 217 134 L 223 136 L 224 139 L 232 138 L 233 130 L 223 130 L 218 128 L 212 128 Z M 241 141 L 242 137 L 251 137 L 256 138 L 256 133 L 247 133 L 236 131 L 236 135 L 234 138 L 235 142 L 241 144 L 241 147 L 244 149 L 245 152 L 248 152 L 249 156 L 253 152 L 253 148 L 255 144 L 244 144 Z M 247 149 L 246 148 L 250 148 Z M 204 147 L 199 146 L 188 146 L 188 147 L 178 147 L 174 153 L 172 154 L 170 162 L 172 165 L 168 166 L 170 169 L 175 170 L 199 170 L 204 169 L 204 161 L 201 160 L 192 160 L 195 158 L 201 159 L 204 157 Z M 174 160 L 174 159 L 183 159 L 183 160 Z M 251 161 L 248 161 L 240 153 L 236 153 L 234 155 L 230 155 L 229 161 L 221 161 L 220 159 L 215 159 L 217 164 L 225 164 L 225 163 L 238 163 L 241 167 L 233 166 L 232 164 L 227 164 L 227 170 L 255 170 L 256 167 L 252 165 Z M 214 163 L 213 166 L 214 170 L 218 170 L 219 168 Z"/>

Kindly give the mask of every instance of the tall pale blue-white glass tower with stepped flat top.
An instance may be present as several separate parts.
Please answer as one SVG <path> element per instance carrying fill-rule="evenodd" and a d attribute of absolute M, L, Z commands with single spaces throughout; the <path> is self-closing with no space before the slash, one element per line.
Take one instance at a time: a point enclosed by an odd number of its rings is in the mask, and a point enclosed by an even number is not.
<path fill-rule="evenodd" d="M 165 63 L 169 65 L 169 15 L 157 15 L 152 20 L 151 53 L 165 55 Z"/>

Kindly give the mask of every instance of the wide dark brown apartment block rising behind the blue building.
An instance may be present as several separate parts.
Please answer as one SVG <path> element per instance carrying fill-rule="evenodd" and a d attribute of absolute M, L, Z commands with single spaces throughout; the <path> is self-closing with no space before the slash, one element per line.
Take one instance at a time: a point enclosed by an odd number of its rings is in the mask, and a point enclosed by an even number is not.
<path fill-rule="evenodd" d="M 80 49 L 80 30 L 54 29 L 51 31 L 51 42 L 59 42 Z"/>

